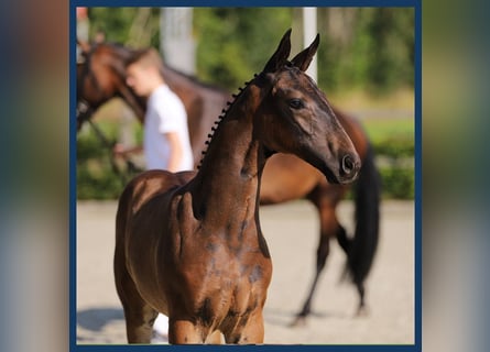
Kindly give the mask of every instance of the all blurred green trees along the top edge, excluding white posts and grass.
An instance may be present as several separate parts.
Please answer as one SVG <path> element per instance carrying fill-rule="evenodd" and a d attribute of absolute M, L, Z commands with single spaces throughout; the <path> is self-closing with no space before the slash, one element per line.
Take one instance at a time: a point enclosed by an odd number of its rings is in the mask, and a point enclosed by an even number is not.
<path fill-rule="evenodd" d="M 382 95 L 413 86 L 412 8 L 318 8 L 317 12 L 320 88 L 329 92 L 361 88 Z M 89 18 L 91 37 L 102 30 L 111 42 L 160 47 L 160 8 L 151 9 L 149 16 L 144 8 L 90 8 Z M 199 78 L 237 89 L 263 68 L 286 29 L 295 29 L 293 42 L 302 36 L 301 21 L 298 8 L 195 8 Z"/>

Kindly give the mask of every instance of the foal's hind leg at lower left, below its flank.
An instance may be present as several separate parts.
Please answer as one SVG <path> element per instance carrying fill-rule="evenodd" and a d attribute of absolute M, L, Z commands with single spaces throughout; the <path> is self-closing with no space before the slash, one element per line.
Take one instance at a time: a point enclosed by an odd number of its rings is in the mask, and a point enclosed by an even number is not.
<path fill-rule="evenodd" d="M 115 278 L 118 296 L 122 302 L 126 318 L 126 333 L 129 343 L 151 343 L 153 322 L 157 311 L 141 298 L 138 289 L 126 270 L 123 256 L 118 248 L 115 255 Z"/>

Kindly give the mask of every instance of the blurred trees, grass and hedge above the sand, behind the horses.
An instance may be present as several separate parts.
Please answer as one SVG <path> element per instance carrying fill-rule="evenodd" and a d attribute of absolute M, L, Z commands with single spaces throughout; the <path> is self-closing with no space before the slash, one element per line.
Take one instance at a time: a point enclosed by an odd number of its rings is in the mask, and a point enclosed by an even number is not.
<path fill-rule="evenodd" d="M 367 130 L 378 155 L 383 197 L 413 199 L 414 9 L 315 10 L 320 45 L 313 75 L 318 86 Z M 153 46 L 168 66 L 230 92 L 263 68 L 288 28 L 293 53 L 308 45 L 316 34 L 304 43 L 309 24 L 303 8 L 77 9 L 79 40 Z M 121 99 L 112 99 L 92 120 L 113 142 L 121 139 L 121 121 L 128 125 L 131 113 Z M 141 125 L 135 119 L 129 124 L 133 143 L 141 143 Z M 86 124 L 77 135 L 78 199 L 119 196 L 122 184 L 110 157 L 110 148 Z"/>

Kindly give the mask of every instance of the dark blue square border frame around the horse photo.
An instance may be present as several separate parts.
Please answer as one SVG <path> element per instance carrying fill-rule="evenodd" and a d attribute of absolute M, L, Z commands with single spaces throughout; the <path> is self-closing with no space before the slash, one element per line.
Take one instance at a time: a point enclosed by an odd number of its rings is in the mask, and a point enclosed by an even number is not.
<path fill-rule="evenodd" d="M 285 0 L 285 1 L 155 1 L 155 0 L 119 0 L 118 7 L 406 7 L 415 10 L 415 343 L 407 345 L 368 344 L 368 345 L 126 345 L 126 344 L 76 344 L 76 7 L 113 7 L 115 1 L 70 0 L 69 2 L 69 351 L 162 351 L 164 349 L 183 349 L 215 351 L 216 349 L 241 349 L 241 351 L 366 351 L 366 352 L 415 352 L 422 351 L 422 1 L 421 0 Z"/>

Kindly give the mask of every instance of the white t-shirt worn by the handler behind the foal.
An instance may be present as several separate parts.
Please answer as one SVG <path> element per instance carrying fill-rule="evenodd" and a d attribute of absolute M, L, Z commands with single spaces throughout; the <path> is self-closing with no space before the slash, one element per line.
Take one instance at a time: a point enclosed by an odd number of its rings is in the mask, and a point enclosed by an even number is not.
<path fill-rule="evenodd" d="M 144 117 L 143 148 L 148 169 L 167 168 L 170 145 L 164 136 L 167 132 L 177 132 L 183 143 L 184 155 L 178 170 L 193 169 L 194 157 L 187 129 L 187 113 L 177 95 L 167 85 L 162 85 L 148 99 Z"/>

